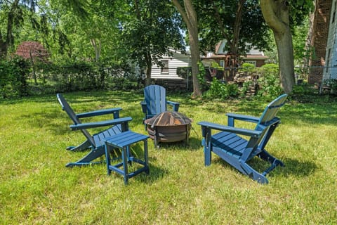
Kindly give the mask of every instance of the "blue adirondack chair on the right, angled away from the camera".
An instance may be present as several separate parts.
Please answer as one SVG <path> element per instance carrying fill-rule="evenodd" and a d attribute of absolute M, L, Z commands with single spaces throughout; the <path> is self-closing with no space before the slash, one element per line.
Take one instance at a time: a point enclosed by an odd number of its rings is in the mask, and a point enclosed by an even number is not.
<path fill-rule="evenodd" d="M 276 114 L 279 108 L 284 105 L 286 97 L 287 95 L 283 94 L 269 103 L 260 117 L 228 113 L 228 126 L 211 122 L 199 122 L 203 136 L 202 145 L 204 146 L 205 165 L 211 165 L 211 152 L 213 152 L 242 172 L 242 174 L 246 174 L 260 184 L 267 184 L 266 175 L 278 165 L 284 166 L 282 161 L 265 150 L 265 146 L 280 122 Z M 234 120 L 256 123 L 256 128 L 242 129 L 234 127 Z M 212 134 L 212 129 L 220 132 Z M 244 139 L 243 136 L 249 138 Z M 271 166 L 264 172 L 259 173 L 248 164 L 249 160 L 255 156 L 270 162 Z"/>

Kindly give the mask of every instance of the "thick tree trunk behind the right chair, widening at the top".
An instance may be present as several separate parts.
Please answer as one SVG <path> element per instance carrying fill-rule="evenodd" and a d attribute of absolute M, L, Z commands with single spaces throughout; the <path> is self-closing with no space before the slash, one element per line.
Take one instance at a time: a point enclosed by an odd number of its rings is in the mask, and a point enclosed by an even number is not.
<path fill-rule="evenodd" d="M 265 22 L 274 33 L 279 56 L 279 78 L 284 92 L 289 94 L 295 84 L 293 68 L 293 42 L 289 25 L 289 2 L 285 0 L 260 0 Z"/>

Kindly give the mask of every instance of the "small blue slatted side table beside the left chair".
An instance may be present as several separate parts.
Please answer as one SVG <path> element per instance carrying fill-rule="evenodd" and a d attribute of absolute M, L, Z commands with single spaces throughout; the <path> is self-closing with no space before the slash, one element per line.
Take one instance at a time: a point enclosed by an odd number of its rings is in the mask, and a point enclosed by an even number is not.
<path fill-rule="evenodd" d="M 149 162 L 148 162 L 148 151 L 147 151 L 147 139 L 149 136 L 144 134 L 138 134 L 133 131 L 125 131 L 121 134 L 117 134 L 105 139 L 105 158 L 107 159 L 107 174 L 110 175 L 112 171 L 117 172 L 124 176 L 124 184 L 128 184 L 128 179 L 145 172 L 149 174 Z M 144 160 L 135 158 L 130 153 L 130 146 L 139 141 L 144 142 Z M 110 162 L 110 148 L 121 149 L 122 162 L 116 165 L 111 165 Z M 128 172 L 128 163 L 136 162 L 141 165 L 139 169 L 133 172 Z M 123 169 L 119 169 L 123 167 Z"/>

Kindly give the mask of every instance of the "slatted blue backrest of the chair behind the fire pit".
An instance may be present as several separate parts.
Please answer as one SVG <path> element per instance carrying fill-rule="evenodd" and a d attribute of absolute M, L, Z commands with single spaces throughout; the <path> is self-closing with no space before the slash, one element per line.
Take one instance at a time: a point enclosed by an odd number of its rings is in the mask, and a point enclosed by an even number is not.
<path fill-rule="evenodd" d="M 166 111 L 166 90 L 163 86 L 150 85 L 144 89 L 147 115 L 157 115 Z"/>

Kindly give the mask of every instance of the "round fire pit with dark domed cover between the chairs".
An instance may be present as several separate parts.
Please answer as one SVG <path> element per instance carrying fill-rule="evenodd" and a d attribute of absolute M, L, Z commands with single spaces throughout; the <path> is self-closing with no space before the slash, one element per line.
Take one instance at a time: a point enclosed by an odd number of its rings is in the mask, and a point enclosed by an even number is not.
<path fill-rule="evenodd" d="M 147 133 L 154 141 L 176 142 L 185 140 L 188 143 L 192 120 L 182 113 L 166 111 L 145 120 Z"/>

